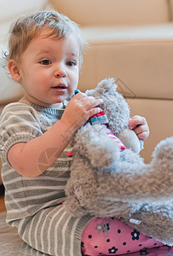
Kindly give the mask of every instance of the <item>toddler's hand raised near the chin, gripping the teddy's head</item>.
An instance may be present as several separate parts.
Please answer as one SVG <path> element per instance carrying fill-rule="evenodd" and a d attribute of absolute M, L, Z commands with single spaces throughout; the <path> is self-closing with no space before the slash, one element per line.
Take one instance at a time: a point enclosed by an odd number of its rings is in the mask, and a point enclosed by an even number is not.
<path fill-rule="evenodd" d="M 85 93 L 79 92 L 68 102 L 61 121 L 69 129 L 77 131 L 90 116 L 101 112 L 102 109 L 98 107 L 101 103 L 103 103 L 102 99 L 95 99 L 93 96 L 87 96 Z"/>

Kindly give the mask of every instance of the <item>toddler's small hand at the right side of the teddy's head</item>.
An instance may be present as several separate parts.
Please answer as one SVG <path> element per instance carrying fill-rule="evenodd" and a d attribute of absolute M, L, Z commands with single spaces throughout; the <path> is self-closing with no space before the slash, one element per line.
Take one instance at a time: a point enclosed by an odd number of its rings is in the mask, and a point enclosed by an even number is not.
<path fill-rule="evenodd" d="M 133 116 L 129 121 L 129 128 L 136 132 L 137 137 L 141 141 L 145 141 L 149 136 L 149 127 L 147 120 L 139 115 Z"/>

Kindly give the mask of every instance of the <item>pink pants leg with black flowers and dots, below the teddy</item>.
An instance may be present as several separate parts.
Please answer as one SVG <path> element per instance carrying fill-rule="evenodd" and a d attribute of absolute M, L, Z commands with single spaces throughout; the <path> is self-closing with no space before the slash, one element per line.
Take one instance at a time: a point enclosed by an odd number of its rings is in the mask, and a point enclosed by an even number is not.
<path fill-rule="evenodd" d="M 89 256 L 134 252 L 145 255 L 148 248 L 163 246 L 162 242 L 142 235 L 138 230 L 130 228 L 117 218 L 93 218 L 86 225 L 81 242 L 82 253 Z"/>

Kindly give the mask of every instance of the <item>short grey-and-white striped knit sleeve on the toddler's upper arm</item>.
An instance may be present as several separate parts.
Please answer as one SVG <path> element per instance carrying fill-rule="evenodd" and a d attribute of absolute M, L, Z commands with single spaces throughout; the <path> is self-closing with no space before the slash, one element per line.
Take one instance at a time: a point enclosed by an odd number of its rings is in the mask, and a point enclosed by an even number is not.
<path fill-rule="evenodd" d="M 7 159 L 9 148 L 16 143 L 26 143 L 43 134 L 39 116 L 34 108 L 10 103 L 3 109 L 0 118 L 0 152 Z"/>

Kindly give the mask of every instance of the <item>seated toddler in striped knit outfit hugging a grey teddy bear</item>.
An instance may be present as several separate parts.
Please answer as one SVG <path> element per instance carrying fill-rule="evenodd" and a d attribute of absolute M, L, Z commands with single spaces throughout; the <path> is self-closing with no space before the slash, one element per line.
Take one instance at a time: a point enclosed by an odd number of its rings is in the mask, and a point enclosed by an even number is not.
<path fill-rule="evenodd" d="M 55 11 L 23 16 L 11 27 L 6 58 L 25 96 L 7 105 L 0 119 L 7 223 L 31 247 L 56 256 L 159 246 L 115 218 L 76 218 L 64 210 L 72 137 L 101 112 L 101 99 L 82 92 L 72 97 L 83 49 L 78 25 Z M 140 116 L 130 120 L 130 129 L 143 141 L 148 137 Z"/>

